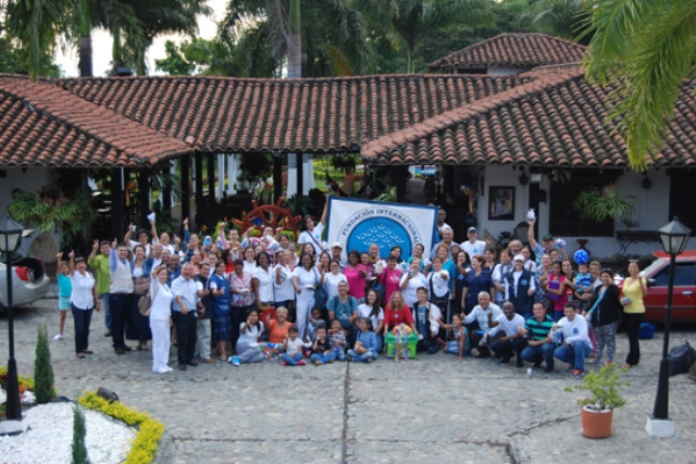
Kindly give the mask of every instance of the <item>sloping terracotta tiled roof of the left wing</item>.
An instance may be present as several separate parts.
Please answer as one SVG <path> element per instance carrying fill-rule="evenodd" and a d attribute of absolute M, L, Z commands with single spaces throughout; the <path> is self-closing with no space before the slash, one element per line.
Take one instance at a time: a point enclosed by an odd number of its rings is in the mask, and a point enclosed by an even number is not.
<path fill-rule="evenodd" d="M 0 76 L 0 166 L 137 167 L 189 152 L 54 85 Z"/>

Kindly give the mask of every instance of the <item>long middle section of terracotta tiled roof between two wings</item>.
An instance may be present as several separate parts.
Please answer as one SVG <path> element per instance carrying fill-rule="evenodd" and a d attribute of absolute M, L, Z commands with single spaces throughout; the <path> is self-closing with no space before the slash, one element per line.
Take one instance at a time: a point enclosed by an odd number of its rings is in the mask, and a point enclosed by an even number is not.
<path fill-rule="evenodd" d="M 59 86 L 202 151 L 339 152 L 529 78 L 78 78 Z"/>

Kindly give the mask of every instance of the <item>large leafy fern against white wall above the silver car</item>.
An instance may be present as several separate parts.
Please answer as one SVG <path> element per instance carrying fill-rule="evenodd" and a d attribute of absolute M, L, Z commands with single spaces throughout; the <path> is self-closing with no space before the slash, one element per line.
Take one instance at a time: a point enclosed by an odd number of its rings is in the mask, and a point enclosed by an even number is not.
<path fill-rule="evenodd" d="M 61 244 L 69 243 L 83 233 L 85 226 L 97 220 L 97 211 L 82 190 L 66 198 L 48 187 L 37 193 L 17 189 L 12 199 L 8 213 L 14 221 L 41 231 L 58 228 L 62 233 Z"/>

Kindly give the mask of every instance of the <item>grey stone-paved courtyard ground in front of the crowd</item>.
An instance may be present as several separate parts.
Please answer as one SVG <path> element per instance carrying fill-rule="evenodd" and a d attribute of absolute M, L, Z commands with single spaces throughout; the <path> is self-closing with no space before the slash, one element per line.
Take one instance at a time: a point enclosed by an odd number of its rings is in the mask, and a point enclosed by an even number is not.
<path fill-rule="evenodd" d="M 17 311 L 20 373 L 33 375 L 36 326 L 58 325 L 55 300 Z M 419 355 L 409 362 L 334 363 L 282 367 L 264 362 L 234 367 L 217 362 L 172 374 L 151 373 L 150 352 L 117 356 L 95 313 L 86 360 L 74 355 L 72 316 L 65 340 L 51 342 L 57 387 L 75 397 L 109 388 L 130 406 L 166 425 L 165 463 L 696 463 L 696 384 L 670 380 L 676 436 L 652 439 L 652 411 L 661 334 L 642 340 L 641 365 L 625 374 L 627 404 L 614 412 L 613 435 L 580 435 L 581 392 L 563 388 L 564 366 L 532 378 L 513 363 L 463 362 L 453 355 Z M 673 333 L 673 344 L 695 341 L 694 328 Z M 135 344 L 135 343 L 132 343 Z M 616 359 L 627 341 L 618 336 Z M 0 363 L 8 353 L 7 317 L 0 319 Z M 170 363 L 172 366 L 174 362 Z"/>

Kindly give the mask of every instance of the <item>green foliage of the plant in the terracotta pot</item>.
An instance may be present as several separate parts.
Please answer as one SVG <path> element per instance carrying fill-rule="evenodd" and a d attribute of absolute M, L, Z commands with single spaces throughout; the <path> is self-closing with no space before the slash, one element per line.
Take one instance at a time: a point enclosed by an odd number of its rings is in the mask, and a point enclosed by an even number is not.
<path fill-rule="evenodd" d="M 629 387 L 631 384 L 620 381 L 622 372 L 625 372 L 625 368 L 621 368 L 617 364 L 606 365 L 599 372 L 593 371 L 587 374 L 582 385 L 566 387 L 566 391 L 589 391 L 591 397 L 577 400 L 577 404 L 596 411 L 623 407 L 626 399 L 619 393 L 619 389 Z"/>

